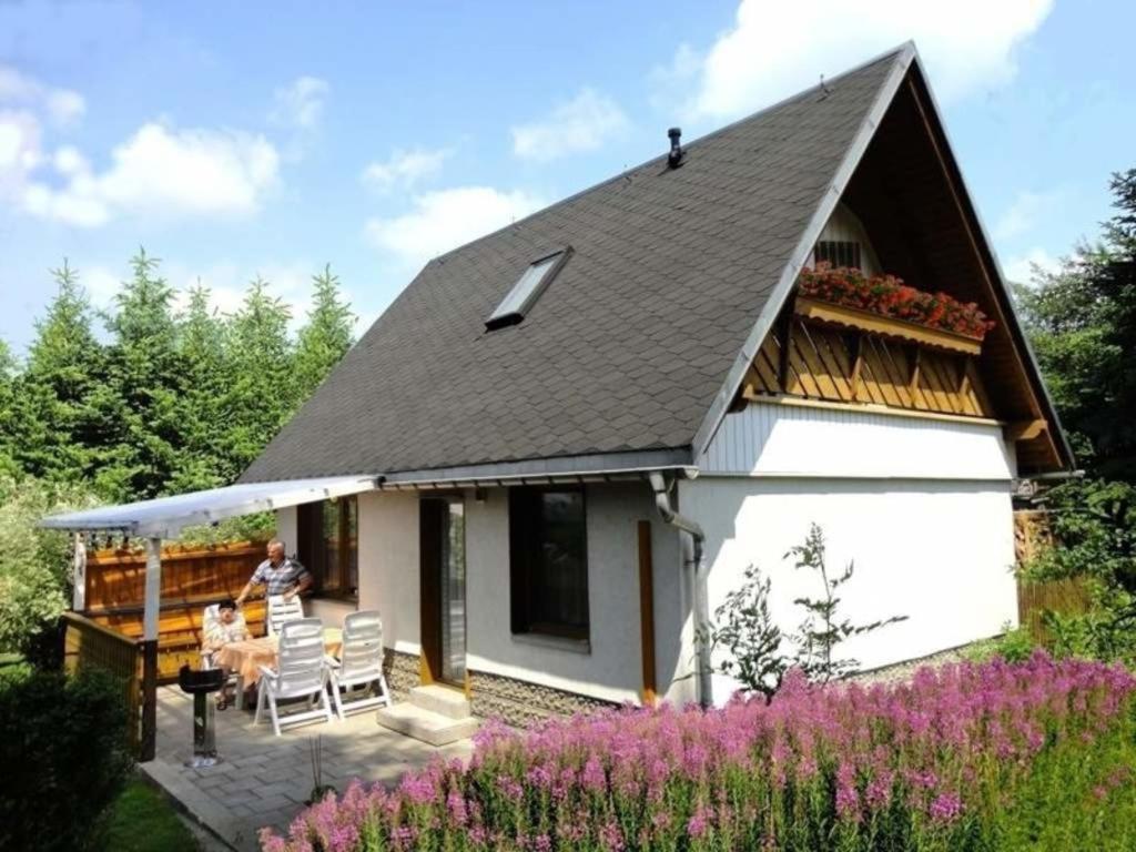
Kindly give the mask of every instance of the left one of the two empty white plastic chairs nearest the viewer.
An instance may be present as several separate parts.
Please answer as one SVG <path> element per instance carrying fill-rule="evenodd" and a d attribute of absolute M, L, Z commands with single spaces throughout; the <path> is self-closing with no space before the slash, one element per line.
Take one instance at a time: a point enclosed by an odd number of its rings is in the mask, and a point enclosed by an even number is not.
<path fill-rule="evenodd" d="M 324 653 L 324 625 L 318 618 L 289 621 L 281 628 L 276 670 L 260 667 L 257 687 L 257 715 L 252 721 L 260 724 L 260 713 L 268 704 L 273 730 L 281 735 L 281 716 L 276 702 L 289 699 L 308 699 L 308 710 L 289 713 L 283 724 L 292 725 L 311 719 L 332 720 L 332 702 L 327 698 L 328 666 Z M 316 709 L 316 703 L 320 704 Z"/>

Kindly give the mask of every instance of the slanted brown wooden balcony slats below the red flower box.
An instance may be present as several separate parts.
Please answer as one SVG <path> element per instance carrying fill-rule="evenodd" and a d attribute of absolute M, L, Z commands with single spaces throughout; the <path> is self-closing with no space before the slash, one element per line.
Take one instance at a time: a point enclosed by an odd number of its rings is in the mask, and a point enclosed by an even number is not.
<path fill-rule="evenodd" d="M 788 337 L 787 353 L 782 351 L 783 337 Z M 769 333 L 742 385 L 746 400 L 780 394 L 963 417 L 993 416 L 974 358 L 816 325 L 800 317 L 777 324 Z"/>

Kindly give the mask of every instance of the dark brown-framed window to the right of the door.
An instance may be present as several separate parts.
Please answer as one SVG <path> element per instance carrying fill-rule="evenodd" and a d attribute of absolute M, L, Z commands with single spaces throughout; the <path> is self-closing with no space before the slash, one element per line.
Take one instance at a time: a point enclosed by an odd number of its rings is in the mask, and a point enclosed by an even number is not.
<path fill-rule="evenodd" d="M 513 633 L 588 637 L 583 488 L 509 490 Z"/>

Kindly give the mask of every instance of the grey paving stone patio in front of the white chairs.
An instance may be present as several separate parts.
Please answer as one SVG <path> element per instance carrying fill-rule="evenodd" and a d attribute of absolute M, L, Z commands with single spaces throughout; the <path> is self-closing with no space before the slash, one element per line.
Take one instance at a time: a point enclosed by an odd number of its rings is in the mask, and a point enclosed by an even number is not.
<path fill-rule="evenodd" d="M 352 778 L 393 784 L 408 769 L 423 767 L 435 755 L 469 757 L 468 740 L 435 749 L 379 727 L 374 710 L 346 721 L 285 728 L 274 736 L 272 725 L 252 724 L 252 713 L 231 707 L 216 713 L 217 751 L 224 758 L 209 769 L 189 769 L 192 757 L 193 700 L 176 687 L 158 691 L 157 758 L 142 765 L 191 818 L 233 849 L 259 849 L 261 826 L 282 830 L 303 809 L 311 792 L 309 743 L 323 742 L 323 782 L 345 790 Z"/>

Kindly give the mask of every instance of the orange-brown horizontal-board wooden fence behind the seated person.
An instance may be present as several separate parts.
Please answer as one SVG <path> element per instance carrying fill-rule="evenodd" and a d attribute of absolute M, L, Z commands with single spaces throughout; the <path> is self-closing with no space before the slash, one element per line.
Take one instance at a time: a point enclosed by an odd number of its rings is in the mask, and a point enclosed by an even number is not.
<path fill-rule="evenodd" d="M 177 679 L 183 663 L 197 666 L 206 607 L 236 598 L 265 558 L 265 545 L 237 542 L 208 548 L 164 548 L 158 619 L 157 678 Z M 102 550 L 87 554 L 83 616 L 131 641 L 142 638 L 145 554 Z M 249 601 L 244 617 L 253 635 L 265 629 L 262 600 Z"/>

